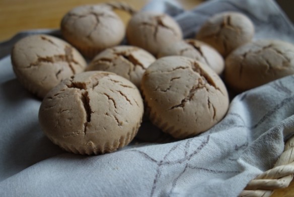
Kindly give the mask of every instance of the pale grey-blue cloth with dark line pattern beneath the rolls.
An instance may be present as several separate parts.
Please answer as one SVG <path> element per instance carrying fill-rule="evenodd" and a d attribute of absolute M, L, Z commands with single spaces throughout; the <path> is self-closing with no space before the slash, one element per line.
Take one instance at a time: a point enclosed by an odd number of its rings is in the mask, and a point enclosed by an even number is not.
<path fill-rule="evenodd" d="M 191 12 L 152 1 L 144 9 L 173 15 L 186 38 L 207 17 L 232 10 L 253 20 L 255 39 L 294 42 L 291 23 L 271 0 L 208 1 Z M 237 95 L 226 117 L 201 135 L 131 143 L 100 156 L 75 155 L 52 144 L 38 123 L 40 103 L 17 81 L 10 56 L 1 59 L 0 196 L 238 196 L 272 168 L 294 134 L 294 76 Z"/>

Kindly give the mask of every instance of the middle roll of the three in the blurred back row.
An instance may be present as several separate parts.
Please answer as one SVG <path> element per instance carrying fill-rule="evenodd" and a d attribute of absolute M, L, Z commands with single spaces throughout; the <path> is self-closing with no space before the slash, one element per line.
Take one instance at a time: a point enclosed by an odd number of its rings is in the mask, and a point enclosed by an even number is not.
<path fill-rule="evenodd" d="M 127 41 L 157 56 L 160 47 L 182 39 L 178 23 L 164 13 L 138 12 L 128 22 Z"/>

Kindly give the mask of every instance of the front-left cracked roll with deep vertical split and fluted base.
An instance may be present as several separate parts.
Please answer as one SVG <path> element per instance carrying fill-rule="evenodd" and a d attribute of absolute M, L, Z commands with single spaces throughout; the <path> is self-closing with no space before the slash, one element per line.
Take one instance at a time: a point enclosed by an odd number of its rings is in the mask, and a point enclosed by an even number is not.
<path fill-rule="evenodd" d="M 104 154 L 124 147 L 143 115 L 138 89 L 121 76 L 92 71 L 62 81 L 44 98 L 39 122 L 45 135 L 76 154 Z"/>

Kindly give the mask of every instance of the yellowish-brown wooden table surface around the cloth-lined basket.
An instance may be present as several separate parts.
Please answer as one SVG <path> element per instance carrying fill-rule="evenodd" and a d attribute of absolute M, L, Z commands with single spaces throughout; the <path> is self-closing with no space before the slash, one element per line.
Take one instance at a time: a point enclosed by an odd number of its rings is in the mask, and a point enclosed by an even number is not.
<path fill-rule="evenodd" d="M 0 0 L 0 42 L 10 39 L 16 33 L 32 29 L 57 29 L 63 15 L 73 7 L 97 4 L 107 0 Z M 124 0 L 139 10 L 148 0 Z M 177 0 L 186 10 L 199 5 L 203 0 Z M 126 24 L 130 16 L 117 12 Z M 294 181 L 285 188 L 275 190 L 272 197 L 294 196 Z"/>

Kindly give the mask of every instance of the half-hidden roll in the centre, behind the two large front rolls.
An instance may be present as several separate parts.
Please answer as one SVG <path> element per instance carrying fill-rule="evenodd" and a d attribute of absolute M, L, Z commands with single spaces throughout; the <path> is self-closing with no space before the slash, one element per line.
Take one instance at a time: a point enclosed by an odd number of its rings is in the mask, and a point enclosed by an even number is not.
<path fill-rule="evenodd" d="M 86 70 L 115 73 L 130 80 L 139 88 L 145 70 L 155 60 L 151 53 L 141 48 L 114 46 L 96 55 Z"/>

